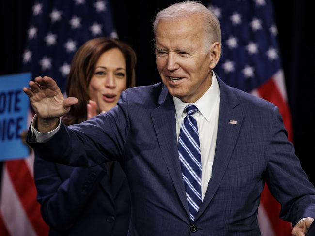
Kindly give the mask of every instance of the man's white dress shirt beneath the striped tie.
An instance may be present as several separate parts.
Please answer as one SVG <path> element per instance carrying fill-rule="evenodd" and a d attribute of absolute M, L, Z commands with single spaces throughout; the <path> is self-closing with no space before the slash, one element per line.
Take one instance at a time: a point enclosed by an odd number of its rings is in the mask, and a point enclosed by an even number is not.
<path fill-rule="evenodd" d="M 185 107 L 189 103 L 182 102 L 173 97 L 176 110 L 176 134 L 177 142 L 180 126 L 186 117 Z M 216 75 L 212 75 L 212 84 L 205 94 L 193 103 L 198 111 L 192 116 L 196 119 L 199 131 L 199 142 L 201 149 L 201 195 L 205 197 L 208 182 L 212 176 L 212 165 L 216 150 L 218 120 L 219 120 L 220 90 Z"/>

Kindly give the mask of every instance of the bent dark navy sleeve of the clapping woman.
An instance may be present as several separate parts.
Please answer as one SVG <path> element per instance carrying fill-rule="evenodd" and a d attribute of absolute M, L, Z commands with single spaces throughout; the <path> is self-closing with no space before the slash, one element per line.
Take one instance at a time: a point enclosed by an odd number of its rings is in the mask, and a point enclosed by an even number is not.
<path fill-rule="evenodd" d="M 89 196 L 106 174 L 106 167 L 58 166 L 35 157 L 34 179 L 45 222 L 52 228 L 64 231 L 78 220 Z M 64 179 L 58 168 L 70 177 Z"/>

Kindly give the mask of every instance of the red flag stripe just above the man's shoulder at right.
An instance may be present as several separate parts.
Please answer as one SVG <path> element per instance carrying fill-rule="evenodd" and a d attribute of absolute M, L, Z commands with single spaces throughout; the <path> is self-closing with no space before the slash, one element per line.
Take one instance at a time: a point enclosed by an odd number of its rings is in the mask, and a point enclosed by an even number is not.
<path fill-rule="evenodd" d="M 269 79 L 265 84 L 257 88 L 259 95 L 269 102 L 279 107 L 280 114 L 284 120 L 284 126 L 288 131 L 288 138 L 293 141 L 291 113 L 288 104 L 284 101 L 277 85 L 273 79 Z"/>

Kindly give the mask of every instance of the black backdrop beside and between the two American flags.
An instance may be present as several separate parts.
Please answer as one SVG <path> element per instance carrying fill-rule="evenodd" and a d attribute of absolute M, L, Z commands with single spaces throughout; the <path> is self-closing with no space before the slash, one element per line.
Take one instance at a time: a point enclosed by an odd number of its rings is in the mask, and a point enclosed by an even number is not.
<path fill-rule="evenodd" d="M 20 71 L 33 0 L 0 0 L 0 75 Z M 112 0 L 119 38 L 138 57 L 137 85 L 160 81 L 153 50 L 152 21 L 175 0 Z M 207 5 L 208 1 L 202 1 Z M 274 15 L 293 119 L 294 145 L 302 167 L 315 184 L 315 33 L 312 1 L 273 0 Z M 241 4 L 241 3 L 240 3 Z M 144 10 L 142 10 L 144 9 Z M 312 15 L 313 14 L 313 15 Z M 1 171 L 1 168 L 0 168 Z"/>

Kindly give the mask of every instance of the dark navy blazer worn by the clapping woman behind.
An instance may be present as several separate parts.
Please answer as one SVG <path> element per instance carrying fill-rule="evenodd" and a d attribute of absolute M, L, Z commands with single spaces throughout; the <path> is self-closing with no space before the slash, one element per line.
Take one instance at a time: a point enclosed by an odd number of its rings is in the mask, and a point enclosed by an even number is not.
<path fill-rule="evenodd" d="M 49 236 L 127 235 L 129 186 L 119 163 L 112 164 L 109 177 L 106 166 L 71 167 L 35 156 L 37 200 Z"/>

